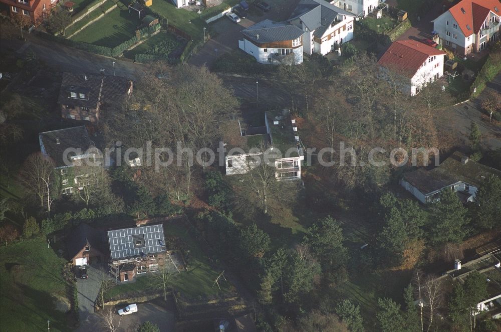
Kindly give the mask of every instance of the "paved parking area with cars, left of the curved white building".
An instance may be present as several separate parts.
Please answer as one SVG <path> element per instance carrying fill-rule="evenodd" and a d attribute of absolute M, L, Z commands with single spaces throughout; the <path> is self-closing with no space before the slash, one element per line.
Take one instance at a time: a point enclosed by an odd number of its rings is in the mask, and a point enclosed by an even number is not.
<path fill-rule="evenodd" d="M 267 0 L 266 2 L 272 7 L 269 12 L 263 12 L 250 5 L 246 13 L 248 17 L 239 23 L 233 23 L 226 17 L 211 23 L 210 27 L 215 32 L 215 36 L 191 57 L 189 63 L 210 68 L 217 57 L 238 49 L 238 40 L 242 39 L 240 31 L 266 19 L 279 22 L 289 18 L 299 0 Z"/>

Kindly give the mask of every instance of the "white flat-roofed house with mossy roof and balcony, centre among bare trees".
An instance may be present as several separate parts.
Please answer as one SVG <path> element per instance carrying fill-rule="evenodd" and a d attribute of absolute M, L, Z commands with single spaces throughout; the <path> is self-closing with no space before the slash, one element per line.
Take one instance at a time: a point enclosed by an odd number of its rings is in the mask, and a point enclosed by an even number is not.
<path fill-rule="evenodd" d="M 239 120 L 228 124 L 223 136 L 226 175 L 245 174 L 270 156 L 277 180 L 301 179 L 304 151 L 296 120 L 288 109 L 265 113 L 265 126 L 244 127 Z"/>

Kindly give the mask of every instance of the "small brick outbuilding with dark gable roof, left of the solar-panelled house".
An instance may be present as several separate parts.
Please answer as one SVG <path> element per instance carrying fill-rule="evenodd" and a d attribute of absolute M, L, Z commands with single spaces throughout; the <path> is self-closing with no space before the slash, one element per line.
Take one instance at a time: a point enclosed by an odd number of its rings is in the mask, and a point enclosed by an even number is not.
<path fill-rule="evenodd" d="M 66 259 L 73 266 L 106 261 L 106 233 L 82 223 L 66 237 Z"/>

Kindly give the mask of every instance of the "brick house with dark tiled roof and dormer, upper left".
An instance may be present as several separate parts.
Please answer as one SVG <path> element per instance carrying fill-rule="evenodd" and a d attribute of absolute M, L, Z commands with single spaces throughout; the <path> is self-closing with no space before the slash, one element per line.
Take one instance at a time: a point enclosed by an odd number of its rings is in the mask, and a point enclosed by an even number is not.
<path fill-rule="evenodd" d="M 126 77 L 65 72 L 58 98 L 61 116 L 97 124 L 101 110 L 121 108 L 132 90 Z"/>

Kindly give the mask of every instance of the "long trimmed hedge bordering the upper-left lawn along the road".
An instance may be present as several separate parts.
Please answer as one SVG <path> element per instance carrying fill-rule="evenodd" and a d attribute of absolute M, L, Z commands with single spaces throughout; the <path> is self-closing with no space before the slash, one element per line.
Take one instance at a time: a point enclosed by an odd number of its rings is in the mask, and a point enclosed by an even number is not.
<path fill-rule="evenodd" d="M 143 36 L 152 34 L 153 32 L 157 31 L 158 29 L 160 29 L 160 24 L 156 24 L 156 25 L 151 26 L 151 27 L 145 27 L 145 28 L 141 29 L 139 32 L 141 34 L 141 37 L 143 37 Z M 137 37 L 134 36 L 131 39 L 123 42 L 122 44 L 115 46 L 114 48 L 110 48 L 110 47 L 98 46 L 98 45 L 84 43 L 84 42 L 77 42 L 77 41 L 74 41 L 71 39 L 62 38 L 60 36 L 50 35 L 48 33 L 42 32 L 42 31 L 37 31 L 37 34 L 40 37 L 51 40 L 51 41 L 55 41 L 55 42 L 58 42 L 58 43 L 61 43 L 64 45 L 74 47 L 74 48 L 79 49 L 79 50 L 83 50 L 83 51 L 87 51 L 87 52 L 91 52 L 91 53 L 95 53 L 95 54 L 99 54 L 99 55 L 104 55 L 107 57 L 119 56 L 125 50 L 127 50 L 132 45 L 134 45 L 138 42 Z"/>

